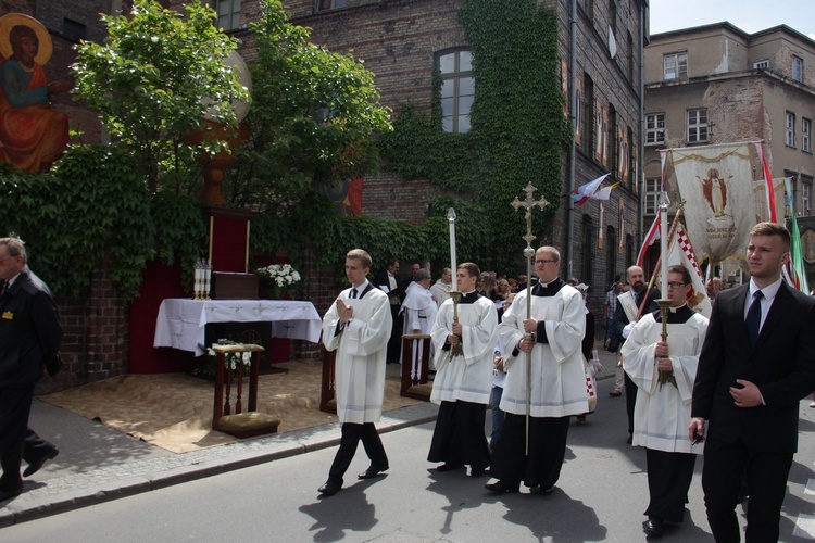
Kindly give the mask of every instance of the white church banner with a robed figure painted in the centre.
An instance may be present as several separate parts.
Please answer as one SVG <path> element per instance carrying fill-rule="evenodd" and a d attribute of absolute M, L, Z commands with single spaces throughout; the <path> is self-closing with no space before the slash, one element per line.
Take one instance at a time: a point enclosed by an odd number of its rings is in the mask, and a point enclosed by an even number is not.
<path fill-rule="evenodd" d="M 685 201 L 688 237 L 700 260 L 720 263 L 744 256 L 750 229 L 757 222 L 750 144 L 666 151 L 668 190 L 678 191 Z"/>

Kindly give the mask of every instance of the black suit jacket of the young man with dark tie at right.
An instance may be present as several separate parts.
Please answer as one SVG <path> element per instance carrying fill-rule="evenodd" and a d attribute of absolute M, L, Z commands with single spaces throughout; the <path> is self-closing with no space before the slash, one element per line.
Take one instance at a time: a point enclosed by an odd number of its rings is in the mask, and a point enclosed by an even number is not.
<path fill-rule="evenodd" d="M 815 390 L 815 298 L 781 283 L 755 345 L 744 324 L 750 286 L 723 290 L 713 306 L 699 357 L 691 416 L 706 419 L 711 438 L 739 438 L 755 451 L 794 453 L 799 402 Z M 758 387 L 764 403 L 737 407 L 736 379 Z"/>

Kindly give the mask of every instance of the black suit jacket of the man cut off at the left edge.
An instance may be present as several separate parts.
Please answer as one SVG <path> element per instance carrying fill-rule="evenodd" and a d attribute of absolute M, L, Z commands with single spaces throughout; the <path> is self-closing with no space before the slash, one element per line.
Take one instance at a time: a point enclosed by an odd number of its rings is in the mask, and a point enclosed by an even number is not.
<path fill-rule="evenodd" d="M 0 295 L 0 388 L 34 386 L 61 341 L 62 327 L 51 295 L 26 272 L 21 273 Z"/>

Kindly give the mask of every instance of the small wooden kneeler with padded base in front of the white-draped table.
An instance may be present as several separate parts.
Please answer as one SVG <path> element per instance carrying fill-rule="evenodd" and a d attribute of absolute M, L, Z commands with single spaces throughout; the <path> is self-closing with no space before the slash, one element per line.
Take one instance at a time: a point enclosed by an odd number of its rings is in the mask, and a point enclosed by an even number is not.
<path fill-rule="evenodd" d="M 212 350 L 215 351 L 217 356 L 215 363 L 215 405 L 212 412 L 212 429 L 241 439 L 277 432 L 280 419 L 255 411 L 258 408 L 259 376 L 256 353 L 262 353 L 264 349 L 255 344 L 239 344 L 213 345 Z M 236 364 L 237 375 L 235 376 L 235 380 L 238 383 L 238 390 L 235 399 L 235 413 L 233 414 L 230 401 L 233 368 L 231 364 L 228 367 L 226 366 L 226 355 L 240 353 L 252 353 L 249 371 L 249 408 L 247 413 L 243 413 L 243 362 L 240 361 Z M 225 391 L 226 394 L 224 393 Z"/>

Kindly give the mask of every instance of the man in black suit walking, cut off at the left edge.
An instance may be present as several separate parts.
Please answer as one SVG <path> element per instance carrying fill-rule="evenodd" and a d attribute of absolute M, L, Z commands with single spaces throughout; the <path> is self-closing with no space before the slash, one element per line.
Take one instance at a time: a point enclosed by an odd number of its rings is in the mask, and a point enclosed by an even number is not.
<path fill-rule="evenodd" d="M 26 272 L 26 258 L 20 239 L 0 238 L 0 501 L 23 491 L 20 465 L 25 441 L 34 445 L 37 438 L 28 430 L 34 384 L 62 340 L 57 306 Z"/>

